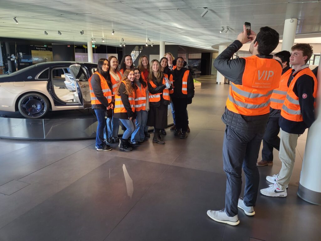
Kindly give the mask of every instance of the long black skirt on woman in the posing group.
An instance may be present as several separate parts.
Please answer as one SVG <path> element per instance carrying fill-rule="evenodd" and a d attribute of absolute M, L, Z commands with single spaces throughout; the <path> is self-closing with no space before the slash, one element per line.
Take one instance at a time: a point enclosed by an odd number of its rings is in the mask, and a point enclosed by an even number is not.
<path fill-rule="evenodd" d="M 168 105 L 160 104 L 158 107 L 150 106 L 148 111 L 147 126 L 155 129 L 167 128 L 167 109 Z"/>

